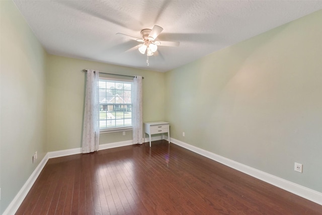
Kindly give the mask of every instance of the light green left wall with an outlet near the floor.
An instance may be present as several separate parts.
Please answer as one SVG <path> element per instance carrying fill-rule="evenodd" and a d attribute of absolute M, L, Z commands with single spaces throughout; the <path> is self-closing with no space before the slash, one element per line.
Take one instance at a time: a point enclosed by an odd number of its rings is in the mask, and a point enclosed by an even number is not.
<path fill-rule="evenodd" d="M 12 1 L 1 4 L 1 209 L 47 153 L 46 52 Z M 38 159 L 32 163 L 32 156 Z"/>

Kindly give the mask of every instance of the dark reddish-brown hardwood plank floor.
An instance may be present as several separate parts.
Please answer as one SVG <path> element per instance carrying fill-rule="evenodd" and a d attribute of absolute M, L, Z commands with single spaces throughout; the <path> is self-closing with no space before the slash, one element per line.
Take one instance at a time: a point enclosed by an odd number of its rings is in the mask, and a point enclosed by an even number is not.
<path fill-rule="evenodd" d="M 322 214 L 167 141 L 49 159 L 16 214 Z"/>

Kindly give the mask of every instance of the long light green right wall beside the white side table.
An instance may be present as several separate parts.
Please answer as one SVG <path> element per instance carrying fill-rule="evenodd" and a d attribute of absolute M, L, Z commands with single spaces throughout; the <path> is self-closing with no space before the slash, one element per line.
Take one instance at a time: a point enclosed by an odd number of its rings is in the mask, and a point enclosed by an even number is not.
<path fill-rule="evenodd" d="M 166 73 L 172 137 L 322 192 L 321 26 L 319 11 Z"/>

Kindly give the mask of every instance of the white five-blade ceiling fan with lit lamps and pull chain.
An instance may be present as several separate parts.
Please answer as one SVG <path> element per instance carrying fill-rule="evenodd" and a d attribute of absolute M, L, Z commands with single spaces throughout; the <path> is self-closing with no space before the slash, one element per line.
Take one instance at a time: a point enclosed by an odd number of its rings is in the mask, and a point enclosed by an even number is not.
<path fill-rule="evenodd" d="M 172 41 L 158 41 L 155 40 L 156 37 L 163 31 L 163 28 L 157 25 L 154 25 L 152 29 L 143 29 L 141 30 L 141 37 L 136 38 L 126 34 L 117 33 L 117 35 L 123 36 L 125 38 L 135 40 L 137 42 L 141 42 L 131 49 L 138 48 L 141 54 L 146 53 L 146 64 L 149 65 L 149 56 L 152 56 L 154 53 L 157 53 L 157 46 L 179 46 L 180 42 L 172 42 Z M 130 49 L 130 50 L 131 50 Z"/>

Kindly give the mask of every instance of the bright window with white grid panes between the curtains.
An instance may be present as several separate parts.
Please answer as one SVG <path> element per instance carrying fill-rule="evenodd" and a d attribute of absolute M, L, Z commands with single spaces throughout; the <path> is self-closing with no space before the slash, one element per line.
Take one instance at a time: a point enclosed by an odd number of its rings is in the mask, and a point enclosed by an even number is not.
<path fill-rule="evenodd" d="M 100 130 L 132 128 L 131 81 L 100 78 Z"/>

